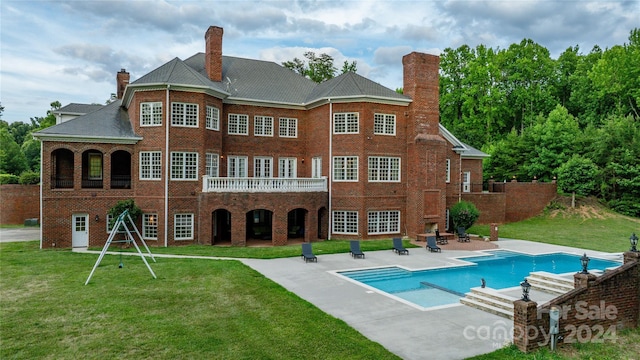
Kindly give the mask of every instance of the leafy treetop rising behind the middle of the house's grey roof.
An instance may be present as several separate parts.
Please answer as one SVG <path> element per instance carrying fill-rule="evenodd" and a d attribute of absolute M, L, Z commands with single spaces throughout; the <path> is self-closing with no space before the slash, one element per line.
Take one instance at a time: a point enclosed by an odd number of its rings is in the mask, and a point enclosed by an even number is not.
<path fill-rule="evenodd" d="M 304 60 L 294 58 L 293 60 L 283 62 L 282 66 L 317 83 L 321 83 L 335 77 L 338 69 L 333 66 L 333 57 L 328 54 L 320 54 L 320 56 L 316 56 L 316 53 L 313 51 L 305 52 L 304 57 L 307 59 L 306 63 Z M 344 64 L 342 65 L 343 74 L 346 72 L 356 72 L 357 70 L 357 62 L 355 60 L 351 63 L 347 60 L 344 61 Z"/>

